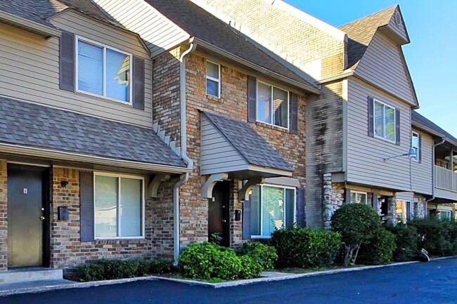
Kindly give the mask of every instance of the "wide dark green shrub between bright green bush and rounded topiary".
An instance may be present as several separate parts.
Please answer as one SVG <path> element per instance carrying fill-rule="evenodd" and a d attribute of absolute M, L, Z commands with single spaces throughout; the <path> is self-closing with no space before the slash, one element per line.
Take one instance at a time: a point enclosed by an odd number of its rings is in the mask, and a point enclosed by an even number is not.
<path fill-rule="evenodd" d="M 334 263 L 341 246 L 335 232 L 309 228 L 283 228 L 271 234 L 280 267 L 319 267 Z"/>

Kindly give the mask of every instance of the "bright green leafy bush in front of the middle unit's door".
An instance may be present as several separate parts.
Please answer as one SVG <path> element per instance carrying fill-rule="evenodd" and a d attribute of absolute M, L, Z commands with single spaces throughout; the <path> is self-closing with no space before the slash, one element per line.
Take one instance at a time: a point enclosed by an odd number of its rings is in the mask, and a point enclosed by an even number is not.
<path fill-rule="evenodd" d="M 251 279 L 263 267 L 251 256 L 237 256 L 235 251 L 213 243 L 188 246 L 179 256 L 181 275 L 190 279 Z"/>

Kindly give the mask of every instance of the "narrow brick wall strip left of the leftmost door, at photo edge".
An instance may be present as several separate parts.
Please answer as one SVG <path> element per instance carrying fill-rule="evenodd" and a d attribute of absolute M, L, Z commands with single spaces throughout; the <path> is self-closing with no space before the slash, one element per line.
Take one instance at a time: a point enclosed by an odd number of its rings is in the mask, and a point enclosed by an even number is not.
<path fill-rule="evenodd" d="M 0 271 L 8 268 L 8 201 L 6 161 L 0 159 Z"/>

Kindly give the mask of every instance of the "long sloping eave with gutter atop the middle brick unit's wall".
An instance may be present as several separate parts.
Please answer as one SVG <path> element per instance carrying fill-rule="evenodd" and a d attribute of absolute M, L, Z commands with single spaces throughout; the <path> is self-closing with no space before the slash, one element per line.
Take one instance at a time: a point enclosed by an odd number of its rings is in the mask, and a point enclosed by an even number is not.
<path fill-rule="evenodd" d="M 267 76 L 269 76 L 269 77 L 271 77 L 273 79 L 278 79 L 280 81 L 283 81 L 283 82 L 285 82 L 287 84 L 290 84 L 292 86 L 295 86 L 297 88 L 301 88 L 301 89 L 303 89 L 303 90 L 305 90 L 305 91 L 307 91 L 309 93 L 314 93 L 314 94 L 317 94 L 317 95 L 321 94 L 321 90 L 319 90 L 318 88 L 314 88 L 314 86 L 303 84 L 300 81 L 296 81 L 294 79 L 290 79 L 290 78 L 285 77 L 285 76 L 283 76 L 281 74 L 278 74 L 276 72 L 268 70 L 265 67 L 261 67 L 260 65 L 257 65 L 257 64 L 255 64 L 253 62 L 250 62 L 249 60 L 245 60 L 243 58 L 240 58 L 239 56 L 234 55 L 233 53 L 229 53 L 228 51 L 224 51 L 223 49 L 218 48 L 217 46 L 214 46 L 214 45 L 209 44 L 209 43 L 207 43 L 205 41 L 202 41 L 201 39 L 198 39 L 197 37 L 191 37 L 191 42 L 193 42 L 197 46 L 200 45 L 200 46 L 202 46 L 204 48 L 209 49 L 210 51 L 213 51 L 214 53 L 218 53 L 219 55 L 223 55 L 226 58 L 229 58 L 231 60 L 239 62 L 240 64 L 245 65 L 246 67 L 250 67 L 252 70 L 256 70 L 257 72 L 261 72 L 263 74 L 266 74 Z"/>

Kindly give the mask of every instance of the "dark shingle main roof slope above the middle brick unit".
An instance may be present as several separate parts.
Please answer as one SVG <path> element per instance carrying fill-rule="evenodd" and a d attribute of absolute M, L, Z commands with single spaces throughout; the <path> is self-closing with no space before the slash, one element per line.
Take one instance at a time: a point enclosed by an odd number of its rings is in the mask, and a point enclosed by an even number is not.
<path fill-rule="evenodd" d="M 228 53 L 255 63 L 267 70 L 281 74 L 289 79 L 317 88 L 315 84 L 303 79 L 275 60 L 254 44 L 243 38 L 243 34 L 226 25 L 204 9 L 188 0 L 146 0 L 157 11 L 160 11 L 176 25 L 184 29 L 192 37 L 207 44 L 217 46 Z"/>

